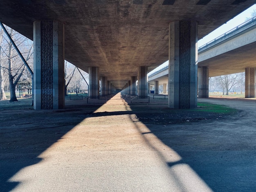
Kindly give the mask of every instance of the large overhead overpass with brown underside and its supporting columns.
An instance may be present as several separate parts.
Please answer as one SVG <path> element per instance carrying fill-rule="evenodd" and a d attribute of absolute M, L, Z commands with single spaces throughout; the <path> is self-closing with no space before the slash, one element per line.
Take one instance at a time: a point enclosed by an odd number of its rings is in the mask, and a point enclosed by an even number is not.
<path fill-rule="evenodd" d="M 197 106 L 197 41 L 255 0 L 2 0 L 0 21 L 34 41 L 34 109 L 61 109 L 66 59 L 89 73 L 89 96 L 127 85 L 170 60 L 171 108 Z M 171 79 L 172 78 L 172 79 Z"/>

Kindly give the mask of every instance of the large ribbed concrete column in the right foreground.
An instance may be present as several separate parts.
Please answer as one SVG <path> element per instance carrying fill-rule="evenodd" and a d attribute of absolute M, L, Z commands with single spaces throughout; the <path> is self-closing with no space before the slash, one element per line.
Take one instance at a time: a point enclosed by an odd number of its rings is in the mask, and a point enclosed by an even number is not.
<path fill-rule="evenodd" d="M 197 107 L 197 22 L 174 21 L 169 25 L 168 107 Z"/>

